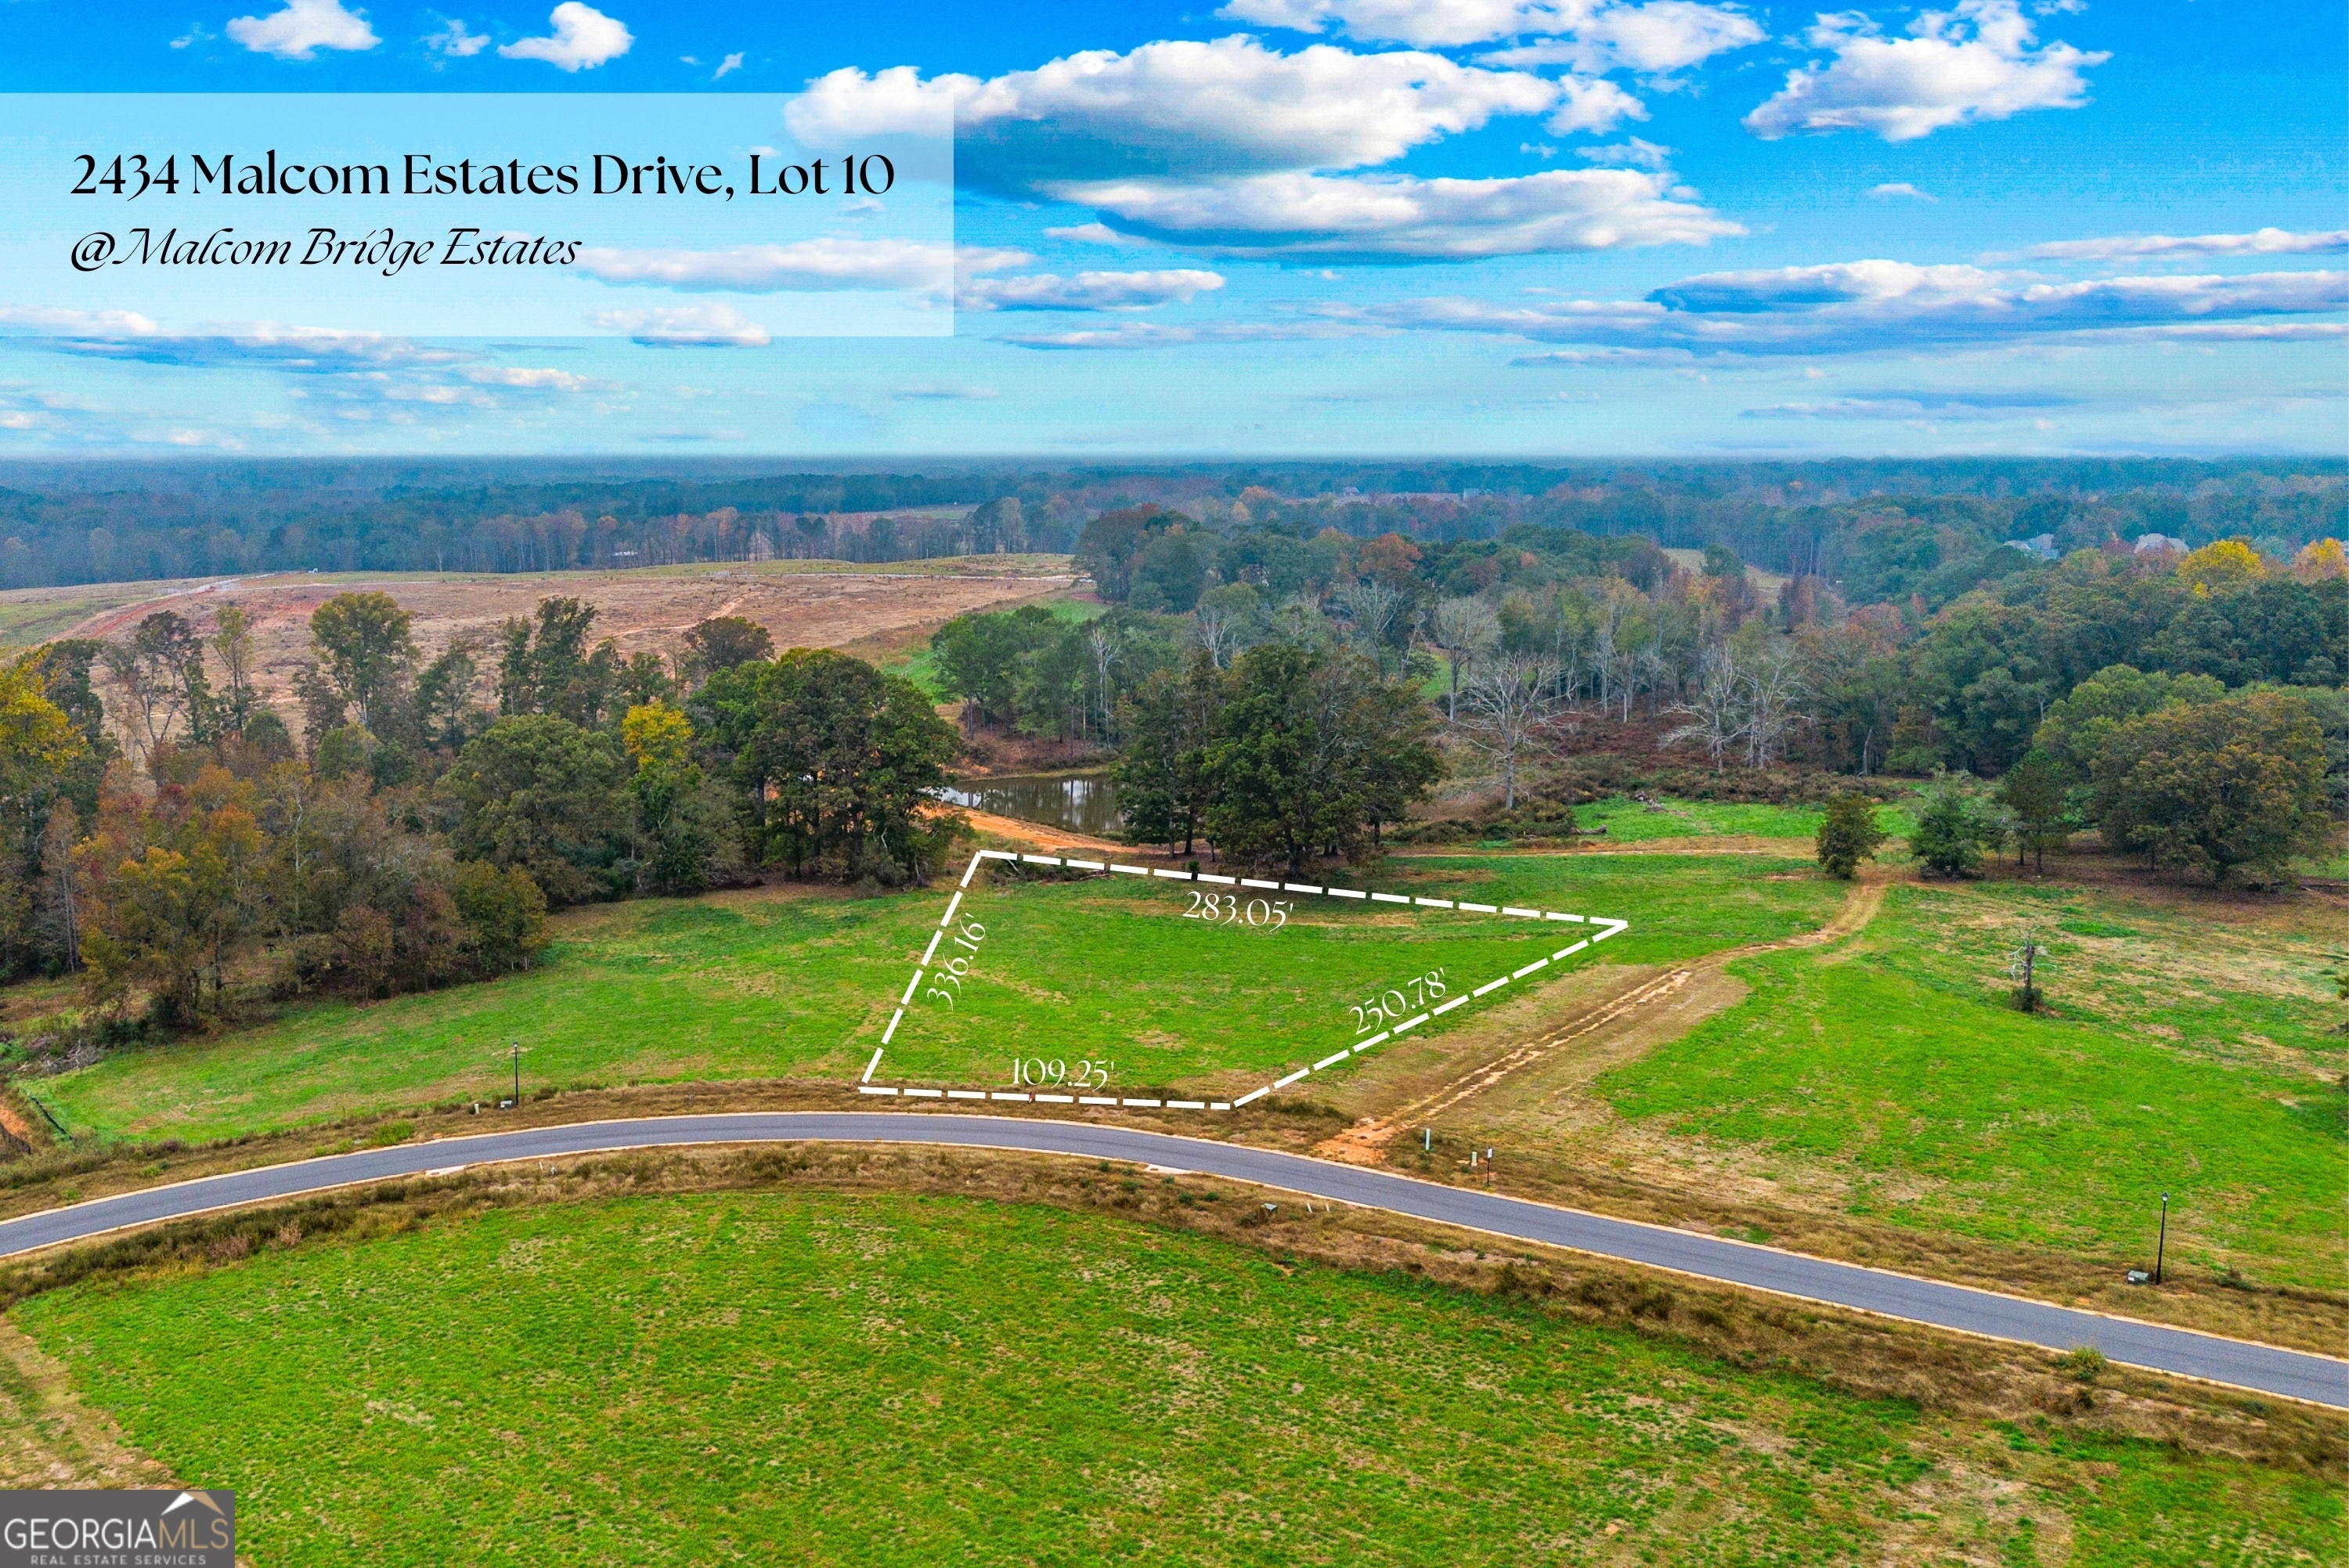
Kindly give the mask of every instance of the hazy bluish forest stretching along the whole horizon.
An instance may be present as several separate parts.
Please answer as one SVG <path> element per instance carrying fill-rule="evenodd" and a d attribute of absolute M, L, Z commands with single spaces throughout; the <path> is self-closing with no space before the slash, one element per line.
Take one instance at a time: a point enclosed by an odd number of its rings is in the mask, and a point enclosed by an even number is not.
<path fill-rule="evenodd" d="M 1179 509 L 1449 545 L 1510 528 L 1727 545 L 1851 603 L 1954 599 L 2008 540 L 2058 556 L 2145 535 L 2246 538 L 2290 559 L 2349 533 L 2340 460 L 1947 458 L 1823 462 L 775 465 L 92 462 L 0 467 L 0 587 L 263 570 L 465 570 L 691 561 L 904 561 L 1066 552 L 1102 512 Z M 1240 507 L 1240 514 L 1233 512 Z M 1886 533 L 1933 566 L 1886 573 Z M 1926 554 L 1910 542 L 1907 554 Z M 1900 566 L 1898 561 L 1893 566 Z M 1938 580 L 1931 570 L 1947 568 Z M 1968 580 L 1971 577 L 1971 580 Z"/>

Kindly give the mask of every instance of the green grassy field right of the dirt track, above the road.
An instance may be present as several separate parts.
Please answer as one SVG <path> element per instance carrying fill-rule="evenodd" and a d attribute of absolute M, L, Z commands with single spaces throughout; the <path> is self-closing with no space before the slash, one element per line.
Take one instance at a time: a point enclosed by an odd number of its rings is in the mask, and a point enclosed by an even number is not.
<path fill-rule="evenodd" d="M 2342 1289 L 2349 1038 L 2314 913 L 2022 885 L 1893 887 L 1865 934 L 1600 1080 L 1637 1122 L 1820 1162 L 1851 1207 L 1992 1239 Z M 2011 1007 L 2025 930 L 2048 1012 Z M 2335 934 L 2337 939 L 2337 934 Z"/>

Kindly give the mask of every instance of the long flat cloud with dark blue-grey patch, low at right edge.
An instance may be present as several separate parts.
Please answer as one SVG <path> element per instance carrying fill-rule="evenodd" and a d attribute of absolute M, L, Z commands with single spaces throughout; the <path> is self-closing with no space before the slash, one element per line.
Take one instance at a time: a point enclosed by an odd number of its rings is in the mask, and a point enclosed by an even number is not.
<path fill-rule="evenodd" d="M 2318 338 L 2349 310 L 2349 272 L 2107 277 L 2048 284 L 1971 265 L 1853 261 L 1712 272 L 1644 300 L 1496 303 L 1475 298 L 1327 305 L 1346 322 L 1482 331 L 1583 347 L 1694 354 L 1835 354 L 1952 343 L 2114 338 Z"/>

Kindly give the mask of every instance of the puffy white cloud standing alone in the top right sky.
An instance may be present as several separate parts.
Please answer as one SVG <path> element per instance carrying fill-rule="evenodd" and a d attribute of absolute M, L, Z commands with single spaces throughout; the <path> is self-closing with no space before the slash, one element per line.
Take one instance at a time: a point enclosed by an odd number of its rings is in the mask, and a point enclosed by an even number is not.
<path fill-rule="evenodd" d="M 1745 115 L 1762 138 L 1795 131 L 1875 131 L 1917 141 L 1950 124 L 2006 120 L 2032 108 L 2081 108 L 2088 101 L 2088 54 L 2065 42 L 2037 45 L 2015 0 L 1957 0 L 1924 12 L 1910 38 L 1884 38 L 1858 12 L 1818 16 L 1809 42 L 1835 59 L 1785 75 L 1773 99 Z"/>

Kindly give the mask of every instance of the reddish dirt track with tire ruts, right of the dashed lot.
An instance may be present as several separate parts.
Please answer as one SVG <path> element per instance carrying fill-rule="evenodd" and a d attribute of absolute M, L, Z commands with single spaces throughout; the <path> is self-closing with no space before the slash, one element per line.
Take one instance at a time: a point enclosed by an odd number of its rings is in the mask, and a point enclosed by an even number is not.
<path fill-rule="evenodd" d="M 1386 1115 L 1362 1117 L 1346 1131 L 1318 1143 L 1313 1153 L 1322 1160 L 1344 1160 L 1348 1164 L 1381 1164 L 1388 1145 L 1398 1134 L 1402 1134 L 1405 1127 L 1433 1120 L 1445 1110 L 1454 1110 L 1506 1077 L 1513 1077 L 1536 1061 L 1557 1054 L 1567 1045 L 1597 1035 L 1597 1049 L 1586 1052 L 1583 1063 L 1583 1077 L 1595 1077 L 1626 1056 L 1640 1056 L 1658 1045 L 1665 1045 L 1668 1040 L 1677 1040 L 1712 1014 L 1738 1002 L 1743 986 L 1729 976 L 1731 962 L 1752 958 L 1755 953 L 1818 948 L 1856 937 L 1870 920 L 1875 920 L 1877 911 L 1884 908 L 1884 887 L 1886 878 L 1882 876 L 1853 883 L 1842 908 L 1837 908 L 1835 915 L 1816 932 L 1799 932 L 1795 937 L 1781 937 L 1778 941 L 1752 941 L 1741 948 L 1722 948 L 1719 953 L 1708 953 L 1687 965 L 1675 965 L 1663 974 L 1635 974 L 1630 981 L 1597 1002 L 1586 1005 L 1550 1033 L 1513 1045 L 1496 1056 L 1487 1056 L 1459 1077 L 1445 1082 L 1440 1089 L 1423 1094 L 1407 1106 Z M 1656 1028 L 1642 1028 L 1649 1023 L 1649 1014 L 1665 1009 L 1675 1014 L 1670 1023 L 1677 1023 L 1670 1035 L 1658 1038 Z M 1658 1023 L 1663 1023 L 1663 1019 L 1658 1019 Z"/>

